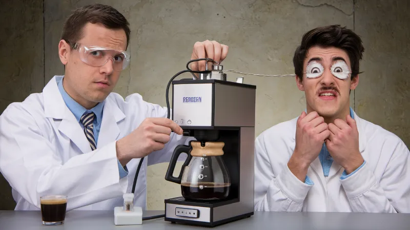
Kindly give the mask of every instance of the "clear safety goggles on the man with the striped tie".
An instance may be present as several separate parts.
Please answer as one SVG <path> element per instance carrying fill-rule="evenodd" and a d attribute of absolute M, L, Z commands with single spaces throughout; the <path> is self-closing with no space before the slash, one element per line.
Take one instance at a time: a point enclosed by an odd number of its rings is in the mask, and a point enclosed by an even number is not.
<path fill-rule="evenodd" d="M 90 66 L 104 66 L 111 60 L 114 71 L 121 71 L 130 64 L 130 53 L 126 51 L 81 43 L 73 43 L 71 47 L 78 51 L 80 59 Z"/>

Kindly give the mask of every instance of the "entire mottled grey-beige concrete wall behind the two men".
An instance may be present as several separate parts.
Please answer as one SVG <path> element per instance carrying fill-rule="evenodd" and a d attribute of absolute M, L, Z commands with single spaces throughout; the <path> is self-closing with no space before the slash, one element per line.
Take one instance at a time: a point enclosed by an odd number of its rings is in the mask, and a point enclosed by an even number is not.
<path fill-rule="evenodd" d="M 139 93 L 145 100 L 162 106 L 166 105 L 164 94 L 169 78 L 185 69 L 195 41 L 215 39 L 228 45 L 225 69 L 291 74 L 293 52 L 304 32 L 330 24 L 354 29 L 366 50 L 361 64 L 364 73 L 358 89 L 351 94 L 351 106 L 362 118 L 397 134 L 407 146 L 410 144 L 410 122 L 406 119 L 410 108 L 407 1 L 45 0 L 44 7 L 43 1 L 13 1 L 9 8 L 0 10 L 1 17 L 10 21 L 1 27 L 8 33 L 1 33 L 0 49 L 11 54 L 1 57 L 2 73 L 6 73 L 2 75 L 3 82 L 7 83 L 0 87 L 0 112 L 10 102 L 40 92 L 53 75 L 64 74 L 57 55 L 64 20 L 76 7 L 95 2 L 115 7 L 131 24 L 131 66 L 121 73 L 115 92 L 124 97 Z M 25 12 L 27 22 L 10 20 L 21 17 L 10 12 Z M 10 57 L 13 65 L 5 65 Z M 22 77 L 16 77 L 18 71 Z M 237 76 L 228 73 L 228 80 Z M 256 135 L 298 116 L 305 108 L 304 94 L 296 88 L 293 77 L 245 76 L 245 82 L 257 86 Z M 13 90 L 15 87 L 18 93 Z M 151 210 L 163 210 L 163 199 L 180 196 L 179 185 L 163 179 L 167 166 L 164 163 L 149 167 L 147 203 Z M 14 207 L 10 195 L 5 195 L 10 194 L 6 185 L 0 180 L 0 209 Z"/>

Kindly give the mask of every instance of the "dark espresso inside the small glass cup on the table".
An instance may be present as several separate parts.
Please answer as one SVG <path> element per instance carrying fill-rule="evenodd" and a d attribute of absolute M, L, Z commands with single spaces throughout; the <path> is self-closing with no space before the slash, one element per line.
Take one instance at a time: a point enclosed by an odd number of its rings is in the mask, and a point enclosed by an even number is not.
<path fill-rule="evenodd" d="M 66 218 L 67 200 L 42 200 L 41 207 L 45 222 L 64 221 Z"/>

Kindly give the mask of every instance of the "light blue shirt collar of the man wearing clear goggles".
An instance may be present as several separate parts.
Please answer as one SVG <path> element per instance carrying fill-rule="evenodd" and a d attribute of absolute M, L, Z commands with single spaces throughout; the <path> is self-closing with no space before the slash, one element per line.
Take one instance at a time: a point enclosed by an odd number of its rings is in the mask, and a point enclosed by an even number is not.
<path fill-rule="evenodd" d="M 86 108 L 81 106 L 81 104 L 79 104 L 77 101 L 71 98 L 70 95 L 68 95 L 68 93 L 63 87 L 63 80 L 64 77 L 61 78 L 59 81 L 57 79 L 58 90 L 60 91 L 61 96 L 63 96 L 63 100 L 66 103 L 68 109 L 70 109 L 70 111 L 74 114 L 75 119 L 77 119 L 77 121 L 80 122 L 80 118 L 81 116 L 83 116 L 84 113 L 94 112 L 96 117 L 96 119 L 94 119 L 94 122 L 100 124 L 101 120 L 103 120 L 104 101 L 98 103 L 91 110 L 87 110 Z"/>

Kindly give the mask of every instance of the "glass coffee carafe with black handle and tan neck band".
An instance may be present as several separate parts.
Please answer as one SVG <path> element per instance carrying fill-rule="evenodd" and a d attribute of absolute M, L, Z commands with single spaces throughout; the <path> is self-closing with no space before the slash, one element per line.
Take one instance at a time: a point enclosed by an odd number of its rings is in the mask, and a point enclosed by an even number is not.
<path fill-rule="evenodd" d="M 224 142 L 191 141 L 178 145 L 172 155 L 166 180 L 181 184 L 182 196 L 187 200 L 218 200 L 227 198 L 231 181 L 222 155 Z M 181 153 L 188 157 L 178 177 L 172 176 Z"/>

